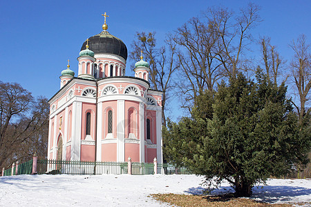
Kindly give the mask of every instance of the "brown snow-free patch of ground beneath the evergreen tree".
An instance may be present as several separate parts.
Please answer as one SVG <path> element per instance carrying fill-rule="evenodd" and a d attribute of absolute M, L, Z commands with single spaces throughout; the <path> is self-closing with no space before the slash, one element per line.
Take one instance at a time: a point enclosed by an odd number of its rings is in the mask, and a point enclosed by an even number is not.
<path fill-rule="evenodd" d="M 225 195 L 179 195 L 179 194 L 152 194 L 154 199 L 167 202 L 172 206 L 292 206 L 290 204 L 266 204 L 252 199 L 236 198 L 233 194 Z"/>

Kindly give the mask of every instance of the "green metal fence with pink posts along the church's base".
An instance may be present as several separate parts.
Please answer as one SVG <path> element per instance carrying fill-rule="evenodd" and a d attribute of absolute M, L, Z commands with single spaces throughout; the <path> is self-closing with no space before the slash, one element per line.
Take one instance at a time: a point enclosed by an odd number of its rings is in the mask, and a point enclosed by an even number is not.
<path fill-rule="evenodd" d="M 12 165 L 11 168 L 4 170 L 3 176 L 23 174 L 67 174 L 67 175 L 102 175 L 102 174 L 128 174 L 131 170 L 132 175 L 153 175 L 155 170 L 158 174 L 164 175 L 189 175 L 191 172 L 185 167 L 176 167 L 173 164 L 157 164 L 117 161 L 66 161 L 55 159 L 32 159 L 18 168 Z M 156 165 L 156 167 L 155 167 Z M 35 166 L 35 167 L 33 167 Z M 16 169 L 17 168 L 17 169 Z M 33 169 L 32 169 L 33 168 Z M 129 169 L 130 168 L 130 169 Z M 13 173 L 12 173 L 13 170 Z"/>

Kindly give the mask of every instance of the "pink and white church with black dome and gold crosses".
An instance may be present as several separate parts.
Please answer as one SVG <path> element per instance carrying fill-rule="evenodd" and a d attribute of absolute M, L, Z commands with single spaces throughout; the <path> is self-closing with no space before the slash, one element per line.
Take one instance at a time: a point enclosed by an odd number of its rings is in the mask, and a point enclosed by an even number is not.
<path fill-rule="evenodd" d="M 103 16 L 102 32 L 82 44 L 77 77 L 68 62 L 48 102 L 48 159 L 162 163 L 162 92 L 150 88 L 142 56 L 125 76 L 127 48 Z"/>

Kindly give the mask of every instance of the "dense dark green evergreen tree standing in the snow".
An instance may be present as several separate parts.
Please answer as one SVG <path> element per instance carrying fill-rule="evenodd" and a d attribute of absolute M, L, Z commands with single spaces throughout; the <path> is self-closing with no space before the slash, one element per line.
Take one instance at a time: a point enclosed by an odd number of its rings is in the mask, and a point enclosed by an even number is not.
<path fill-rule="evenodd" d="M 191 118 L 169 121 L 163 132 L 167 160 L 205 175 L 208 184 L 229 181 L 238 196 L 306 164 L 310 125 L 299 126 L 283 83 L 276 86 L 260 71 L 256 80 L 240 74 L 221 83 L 214 96 L 200 95 Z"/>

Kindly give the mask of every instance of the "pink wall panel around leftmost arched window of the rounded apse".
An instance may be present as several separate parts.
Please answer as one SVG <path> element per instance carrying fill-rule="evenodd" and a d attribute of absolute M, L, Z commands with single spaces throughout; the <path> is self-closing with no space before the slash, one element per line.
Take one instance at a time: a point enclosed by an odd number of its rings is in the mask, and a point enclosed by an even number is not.
<path fill-rule="evenodd" d="M 108 134 L 108 112 L 113 111 L 113 138 L 117 137 L 117 101 L 105 101 L 102 103 L 103 126 L 102 139 Z"/>

